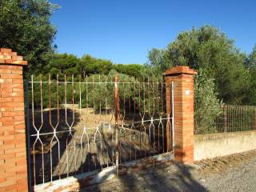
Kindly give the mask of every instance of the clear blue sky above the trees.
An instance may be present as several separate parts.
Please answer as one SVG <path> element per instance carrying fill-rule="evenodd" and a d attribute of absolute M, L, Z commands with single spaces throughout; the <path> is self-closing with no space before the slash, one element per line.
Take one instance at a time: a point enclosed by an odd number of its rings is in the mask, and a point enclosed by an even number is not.
<path fill-rule="evenodd" d="M 250 53 L 256 43 L 256 1 L 50 0 L 61 6 L 59 53 L 91 54 L 114 63 L 147 61 L 148 50 L 164 48 L 178 33 L 210 24 Z"/>

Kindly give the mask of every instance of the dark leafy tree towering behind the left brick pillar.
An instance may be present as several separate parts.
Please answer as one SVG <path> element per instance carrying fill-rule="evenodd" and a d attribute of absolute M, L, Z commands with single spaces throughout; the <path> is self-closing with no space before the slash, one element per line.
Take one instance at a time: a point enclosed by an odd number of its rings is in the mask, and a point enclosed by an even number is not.
<path fill-rule="evenodd" d="M 50 16 L 57 8 L 47 0 L 0 1 L 0 46 L 24 56 L 30 74 L 42 71 L 53 54 Z"/>

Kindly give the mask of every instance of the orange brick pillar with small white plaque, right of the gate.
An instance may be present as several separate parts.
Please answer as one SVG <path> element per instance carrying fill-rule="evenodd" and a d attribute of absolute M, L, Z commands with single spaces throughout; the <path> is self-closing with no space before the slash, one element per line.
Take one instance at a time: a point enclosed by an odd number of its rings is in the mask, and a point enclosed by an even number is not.
<path fill-rule="evenodd" d="M 194 162 L 194 74 L 188 66 L 175 66 L 164 74 L 167 113 L 171 110 L 168 85 L 174 82 L 174 159 L 178 162 Z"/>

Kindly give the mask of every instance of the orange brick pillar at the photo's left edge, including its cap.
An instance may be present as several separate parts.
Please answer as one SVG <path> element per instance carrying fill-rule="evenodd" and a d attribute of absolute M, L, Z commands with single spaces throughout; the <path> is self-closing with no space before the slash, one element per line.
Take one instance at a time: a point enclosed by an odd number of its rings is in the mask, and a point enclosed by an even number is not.
<path fill-rule="evenodd" d="M 0 191 L 27 191 L 23 66 L 10 49 L 0 49 Z"/>

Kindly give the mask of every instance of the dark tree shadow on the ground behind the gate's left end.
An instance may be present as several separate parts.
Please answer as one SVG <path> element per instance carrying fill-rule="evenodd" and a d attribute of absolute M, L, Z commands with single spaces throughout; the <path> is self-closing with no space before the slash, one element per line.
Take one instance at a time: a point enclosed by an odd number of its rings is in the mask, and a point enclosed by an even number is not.
<path fill-rule="evenodd" d="M 42 113 L 40 110 L 34 110 L 34 114 L 30 110 L 29 115 L 32 183 L 39 184 L 55 178 L 64 178 L 68 170 L 58 173 L 55 170 L 62 163 L 60 160 L 65 156 L 66 150 L 70 148 L 72 135 L 76 132 L 76 129 L 70 131 L 70 127 L 78 126 L 79 114 L 71 109 L 52 109 L 43 110 Z M 74 173 L 70 171 L 70 175 L 72 174 Z"/>

